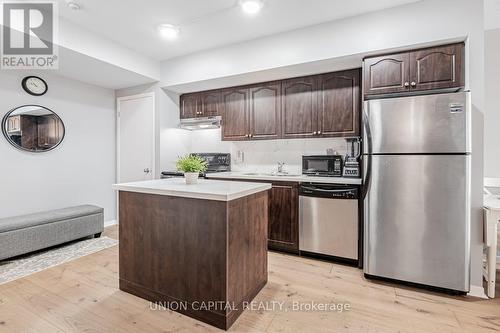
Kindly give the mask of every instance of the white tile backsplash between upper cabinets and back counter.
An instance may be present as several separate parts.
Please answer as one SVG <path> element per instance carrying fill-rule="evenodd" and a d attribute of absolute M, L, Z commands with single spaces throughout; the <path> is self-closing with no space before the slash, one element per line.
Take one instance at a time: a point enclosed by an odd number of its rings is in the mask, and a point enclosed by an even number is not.
<path fill-rule="evenodd" d="M 347 152 L 347 142 L 341 138 L 291 139 L 262 141 L 221 141 L 221 130 L 191 132 L 191 151 L 197 153 L 231 153 L 233 171 L 276 171 L 278 162 L 285 162 L 285 171 L 301 173 L 302 155 L 326 155 L 333 149 L 340 155 Z M 243 162 L 238 152 L 243 152 Z"/>

